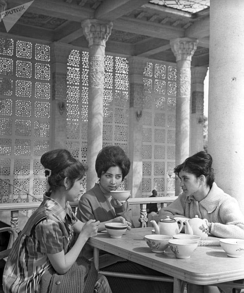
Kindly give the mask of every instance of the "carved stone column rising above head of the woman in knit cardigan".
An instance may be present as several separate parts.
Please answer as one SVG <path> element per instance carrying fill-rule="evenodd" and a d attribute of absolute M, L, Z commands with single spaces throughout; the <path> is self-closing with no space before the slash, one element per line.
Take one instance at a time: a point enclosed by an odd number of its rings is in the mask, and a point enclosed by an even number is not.
<path fill-rule="evenodd" d="M 175 164 L 182 163 L 190 151 L 190 93 L 191 93 L 191 60 L 197 49 L 197 39 L 177 38 L 170 40 L 171 50 L 176 57 L 177 92 L 176 92 L 176 131 L 175 131 Z M 175 180 L 175 195 L 181 191 L 178 180 Z"/>

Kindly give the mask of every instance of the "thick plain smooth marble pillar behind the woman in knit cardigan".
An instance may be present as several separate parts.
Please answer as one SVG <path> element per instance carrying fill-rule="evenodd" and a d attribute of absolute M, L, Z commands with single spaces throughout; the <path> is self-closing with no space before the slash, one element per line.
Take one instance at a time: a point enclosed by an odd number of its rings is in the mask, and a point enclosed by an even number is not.
<path fill-rule="evenodd" d="M 244 213 L 244 1 L 219 4 L 210 6 L 208 152 L 217 185 Z"/>

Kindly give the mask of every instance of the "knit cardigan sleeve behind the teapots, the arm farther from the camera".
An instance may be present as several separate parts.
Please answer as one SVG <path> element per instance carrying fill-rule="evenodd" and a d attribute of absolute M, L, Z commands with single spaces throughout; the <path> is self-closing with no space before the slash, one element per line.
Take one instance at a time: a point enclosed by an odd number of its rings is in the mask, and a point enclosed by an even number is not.
<path fill-rule="evenodd" d="M 185 216 L 185 195 L 181 193 L 176 200 L 171 202 L 170 205 L 167 207 L 162 207 L 158 214 L 157 221 L 161 219 L 165 219 L 166 216 L 175 216 L 175 215 L 181 215 Z"/>

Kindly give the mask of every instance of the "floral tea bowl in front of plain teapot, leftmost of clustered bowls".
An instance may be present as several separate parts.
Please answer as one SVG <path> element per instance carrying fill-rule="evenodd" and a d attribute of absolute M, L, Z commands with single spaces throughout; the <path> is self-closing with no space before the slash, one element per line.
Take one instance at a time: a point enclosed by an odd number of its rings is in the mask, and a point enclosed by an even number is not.
<path fill-rule="evenodd" d="M 172 237 L 168 235 L 149 234 L 145 235 L 144 239 L 152 252 L 162 253 L 169 247 L 169 240 Z"/>

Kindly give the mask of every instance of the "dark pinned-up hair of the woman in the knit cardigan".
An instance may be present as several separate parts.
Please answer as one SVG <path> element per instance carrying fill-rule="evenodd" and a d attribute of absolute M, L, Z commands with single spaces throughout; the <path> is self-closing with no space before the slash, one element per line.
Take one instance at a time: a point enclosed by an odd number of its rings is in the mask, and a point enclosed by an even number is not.
<path fill-rule="evenodd" d="M 212 157 L 205 151 L 185 159 L 185 161 L 174 168 L 174 173 L 179 176 L 181 170 L 194 174 L 197 178 L 204 175 L 207 178 L 207 184 L 212 187 L 214 183 L 214 169 L 212 166 Z"/>

